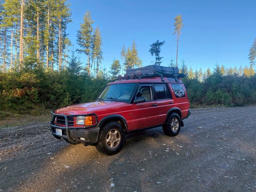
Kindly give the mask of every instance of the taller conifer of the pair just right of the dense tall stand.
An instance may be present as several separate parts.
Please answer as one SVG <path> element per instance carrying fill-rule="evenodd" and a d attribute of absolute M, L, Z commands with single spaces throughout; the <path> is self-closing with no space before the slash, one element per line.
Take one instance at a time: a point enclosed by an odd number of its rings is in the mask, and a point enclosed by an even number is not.
<path fill-rule="evenodd" d="M 92 24 L 94 21 L 91 19 L 90 11 L 86 11 L 83 17 L 83 23 L 80 24 L 80 29 L 77 33 L 77 44 L 81 49 L 78 49 L 80 53 L 85 53 L 87 55 L 87 70 L 90 73 L 90 48 L 92 41 Z"/>

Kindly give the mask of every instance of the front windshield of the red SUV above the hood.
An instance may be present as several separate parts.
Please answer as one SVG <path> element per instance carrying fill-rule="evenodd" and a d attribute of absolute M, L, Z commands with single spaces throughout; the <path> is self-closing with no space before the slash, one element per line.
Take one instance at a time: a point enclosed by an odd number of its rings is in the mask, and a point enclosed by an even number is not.
<path fill-rule="evenodd" d="M 113 100 L 117 102 L 129 102 L 136 83 L 120 83 L 108 85 L 102 91 L 98 100 Z"/>

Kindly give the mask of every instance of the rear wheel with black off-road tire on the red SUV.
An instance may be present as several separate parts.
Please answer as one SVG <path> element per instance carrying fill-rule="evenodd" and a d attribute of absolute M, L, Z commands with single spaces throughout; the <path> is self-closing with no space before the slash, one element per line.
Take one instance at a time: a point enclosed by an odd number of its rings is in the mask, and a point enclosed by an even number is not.
<path fill-rule="evenodd" d="M 178 121 L 178 125 L 177 125 L 177 130 L 175 130 L 175 128 L 172 129 L 172 125 L 171 123 L 173 122 L 177 122 Z M 174 126 L 175 127 L 175 126 Z M 177 114 L 177 113 L 171 113 L 167 119 L 166 124 L 163 125 L 163 131 L 166 134 L 166 136 L 177 136 L 179 134 L 181 130 L 181 117 Z"/>

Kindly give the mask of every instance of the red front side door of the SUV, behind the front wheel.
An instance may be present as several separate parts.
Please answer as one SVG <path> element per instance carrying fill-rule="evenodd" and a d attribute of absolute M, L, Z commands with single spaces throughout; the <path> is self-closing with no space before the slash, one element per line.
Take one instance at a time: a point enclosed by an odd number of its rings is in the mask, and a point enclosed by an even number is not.
<path fill-rule="evenodd" d="M 157 102 L 154 99 L 152 84 L 140 84 L 135 100 L 138 97 L 145 97 L 146 101 L 132 104 L 132 129 L 147 128 L 157 125 L 158 108 Z"/>

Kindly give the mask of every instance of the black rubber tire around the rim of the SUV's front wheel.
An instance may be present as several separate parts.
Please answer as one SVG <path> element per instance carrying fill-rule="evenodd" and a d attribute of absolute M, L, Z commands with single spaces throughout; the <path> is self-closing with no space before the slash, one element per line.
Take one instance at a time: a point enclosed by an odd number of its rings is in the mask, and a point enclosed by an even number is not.
<path fill-rule="evenodd" d="M 106 141 L 107 134 L 112 129 L 116 129 L 120 133 L 120 142 L 115 148 L 110 148 Z M 116 121 L 110 121 L 101 127 L 99 136 L 98 136 L 98 143 L 95 147 L 102 154 L 113 155 L 113 154 L 117 154 L 124 147 L 124 143 L 125 143 L 125 136 L 124 136 L 124 130 L 122 126 Z"/>

